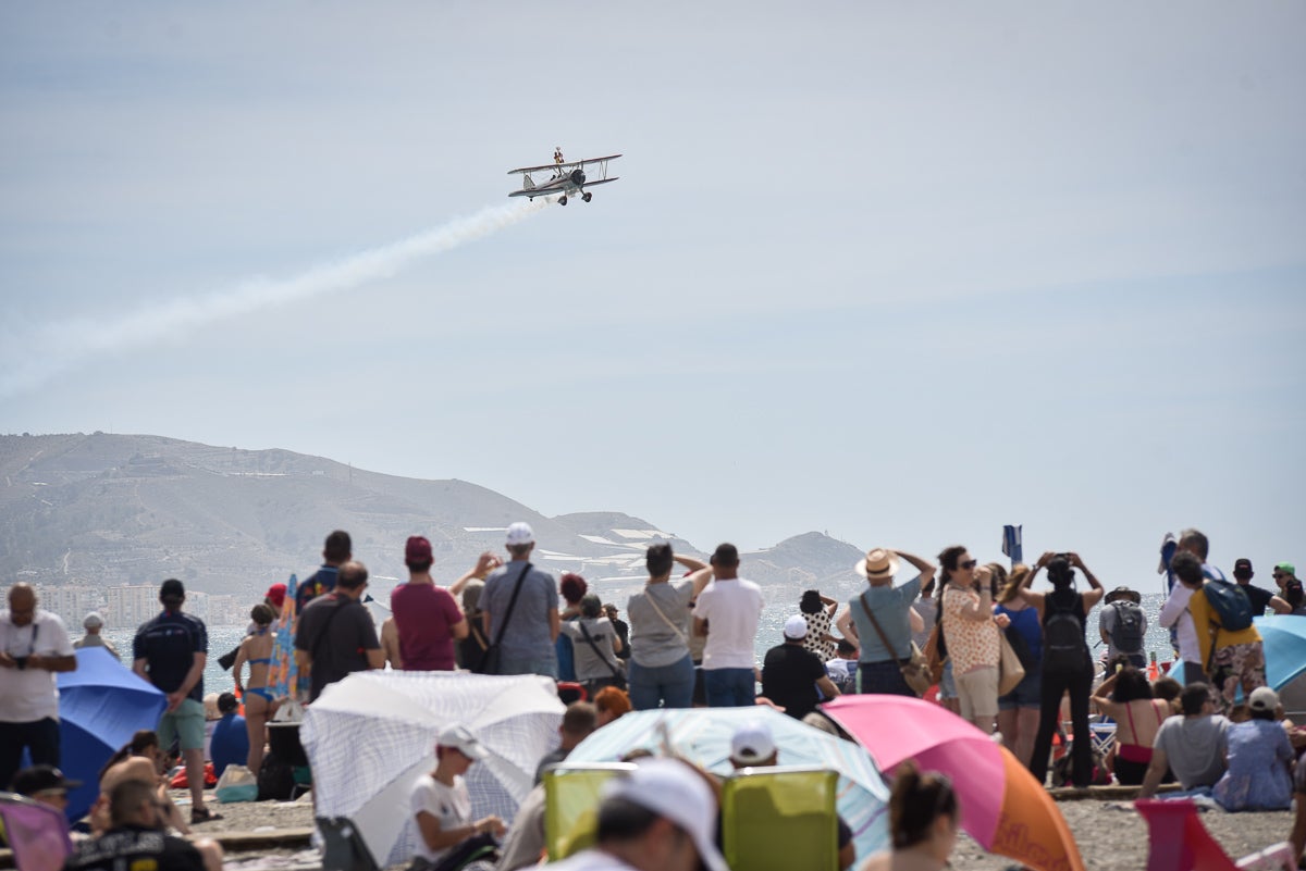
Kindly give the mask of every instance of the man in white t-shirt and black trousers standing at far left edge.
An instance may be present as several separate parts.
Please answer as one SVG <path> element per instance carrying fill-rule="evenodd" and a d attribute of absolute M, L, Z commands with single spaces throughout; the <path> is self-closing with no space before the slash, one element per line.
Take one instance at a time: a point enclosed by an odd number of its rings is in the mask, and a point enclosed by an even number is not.
<path fill-rule="evenodd" d="M 77 668 L 73 643 L 56 614 L 37 608 L 29 584 L 9 588 L 0 610 L 0 789 L 8 789 L 24 748 L 34 765 L 59 768 L 57 672 Z"/>

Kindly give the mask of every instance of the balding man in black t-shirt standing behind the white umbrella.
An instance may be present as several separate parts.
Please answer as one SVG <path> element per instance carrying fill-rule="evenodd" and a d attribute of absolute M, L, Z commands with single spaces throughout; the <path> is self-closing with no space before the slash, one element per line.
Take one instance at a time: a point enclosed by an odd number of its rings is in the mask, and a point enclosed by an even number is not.
<path fill-rule="evenodd" d="M 299 615 L 295 662 L 300 672 L 308 672 L 310 701 L 347 674 L 385 666 L 376 623 L 359 601 L 366 589 L 367 567 L 346 562 L 340 567 L 336 589 L 308 602 Z"/>

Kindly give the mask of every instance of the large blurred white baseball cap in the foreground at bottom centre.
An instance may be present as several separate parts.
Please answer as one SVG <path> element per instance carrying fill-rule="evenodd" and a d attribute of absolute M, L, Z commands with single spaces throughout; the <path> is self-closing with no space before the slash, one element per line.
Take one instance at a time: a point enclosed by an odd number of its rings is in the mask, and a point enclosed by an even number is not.
<path fill-rule="evenodd" d="M 675 759 L 641 759 L 624 777 L 603 785 L 603 798 L 620 798 L 665 816 L 693 840 L 708 871 L 730 871 L 713 842 L 717 799 L 703 778 Z"/>

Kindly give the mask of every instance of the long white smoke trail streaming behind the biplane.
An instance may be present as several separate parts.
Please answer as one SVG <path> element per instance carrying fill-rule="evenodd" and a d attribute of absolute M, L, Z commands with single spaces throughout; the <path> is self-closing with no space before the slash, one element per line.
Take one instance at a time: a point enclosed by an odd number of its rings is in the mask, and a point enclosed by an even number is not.
<path fill-rule="evenodd" d="M 118 319 L 84 318 L 47 323 L 5 344 L 0 398 L 34 390 L 54 376 L 97 355 L 141 347 L 161 339 L 175 339 L 213 321 L 389 278 L 418 259 L 444 253 L 516 224 L 551 202 L 552 197 L 541 197 L 526 203 L 513 202 L 482 209 L 469 218 L 458 218 L 409 239 L 315 266 L 281 280 L 255 278 L 210 296 L 149 305 Z"/>

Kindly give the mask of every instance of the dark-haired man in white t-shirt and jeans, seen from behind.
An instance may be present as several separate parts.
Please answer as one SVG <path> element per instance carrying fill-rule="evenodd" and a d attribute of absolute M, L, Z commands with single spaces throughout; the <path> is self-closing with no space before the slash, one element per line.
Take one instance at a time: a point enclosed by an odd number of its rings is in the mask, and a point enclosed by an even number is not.
<path fill-rule="evenodd" d="M 756 703 L 754 643 L 761 619 L 761 587 L 739 576 L 739 550 L 722 544 L 712 554 L 714 580 L 693 606 L 693 634 L 705 635 L 703 687 L 709 708 Z"/>

